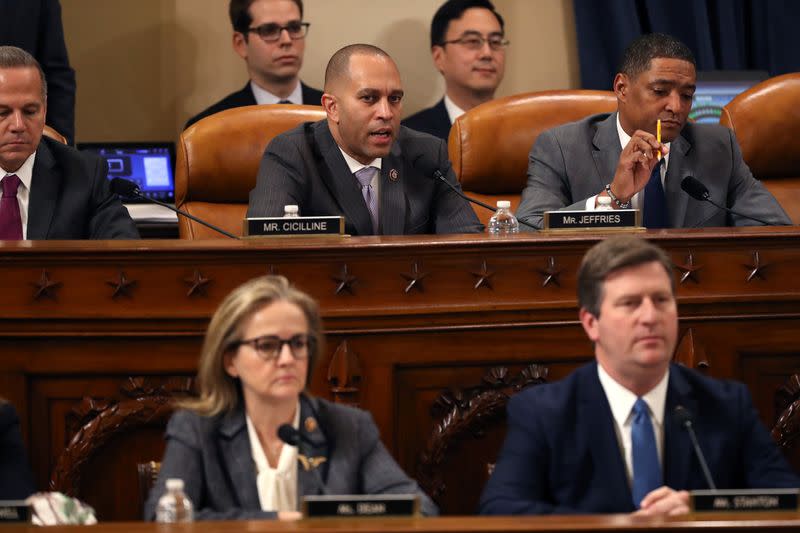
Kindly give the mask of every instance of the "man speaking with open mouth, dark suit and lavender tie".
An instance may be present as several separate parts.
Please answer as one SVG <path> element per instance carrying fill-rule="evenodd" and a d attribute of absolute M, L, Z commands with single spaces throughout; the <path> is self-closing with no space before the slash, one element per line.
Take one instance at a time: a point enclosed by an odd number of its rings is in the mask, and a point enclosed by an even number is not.
<path fill-rule="evenodd" d="M 351 235 L 479 232 L 441 139 L 400 126 L 403 87 L 386 52 L 355 44 L 325 71 L 327 119 L 306 123 L 267 146 L 250 192 L 249 217 L 341 215 Z"/>

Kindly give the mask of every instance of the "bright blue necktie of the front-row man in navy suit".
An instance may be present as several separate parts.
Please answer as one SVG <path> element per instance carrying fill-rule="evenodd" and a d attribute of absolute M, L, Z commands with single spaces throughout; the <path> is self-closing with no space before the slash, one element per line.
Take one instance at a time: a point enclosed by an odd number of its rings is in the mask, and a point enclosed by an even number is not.
<path fill-rule="evenodd" d="M 633 424 L 631 424 L 631 448 L 633 448 L 633 505 L 638 509 L 647 494 L 664 484 L 661 465 L 658 462 L 656 435 L 647 411 L 647 404 L 641 398 L 633 404 Z"/>

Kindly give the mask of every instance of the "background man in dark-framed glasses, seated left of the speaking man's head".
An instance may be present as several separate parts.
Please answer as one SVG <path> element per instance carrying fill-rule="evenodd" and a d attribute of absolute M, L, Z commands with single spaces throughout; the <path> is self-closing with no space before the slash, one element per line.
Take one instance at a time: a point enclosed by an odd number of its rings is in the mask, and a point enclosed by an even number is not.
<path fill-rule="evenodd" d="M 322 92 L 300 81 L 305 37 L 302 0 L 231 0 L 233 49 L 244 59 L 250 81 L 199 115 L 198 120 L 225 109 L 256 104 L 321 105 Z"/>

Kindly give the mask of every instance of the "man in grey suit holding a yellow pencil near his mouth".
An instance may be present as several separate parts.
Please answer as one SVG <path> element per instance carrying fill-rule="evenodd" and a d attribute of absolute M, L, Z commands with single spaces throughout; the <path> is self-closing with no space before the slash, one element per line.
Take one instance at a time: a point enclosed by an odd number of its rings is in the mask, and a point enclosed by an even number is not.
<path fill-rule="evenodd" d="M 517 218 L 541 228 L 545 211 L 593 210 L 598 197 L 609 196 L 614 209 L 642 209 L 648 228 L 758 224 L 691 198 L 681 182 L 693 176 L 730 209 L 791 224 L 753 177 L 732 131 L 688 122 L 695 81 L 694 55 L 685 44 L 660 33 L 634 40 L 614 78 L 618 112 L 539 135 Z"/>

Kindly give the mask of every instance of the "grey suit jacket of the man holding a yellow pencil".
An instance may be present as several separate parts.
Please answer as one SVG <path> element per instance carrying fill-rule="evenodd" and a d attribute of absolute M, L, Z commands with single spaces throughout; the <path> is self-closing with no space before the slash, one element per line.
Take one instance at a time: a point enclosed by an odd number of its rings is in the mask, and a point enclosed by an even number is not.
<path fill-rule="evenodd" d="M 622 152 L 616 116 L 593 115 L 539 136 L 528 158 L 528 184 L 517 218 L 541 228 L 545 211 L 583 210 L 586 200 L 612 181 Z M 681 190 L 686 176 L 703 182 L 711 198 L 730 209 L 775 225 L 792 223 L 753 177 L 733 132 L 723 126 L 687 124 L 670 145 L 664 182 L 670 224 L 674 228 L 759 225 L 692 199 Z"/>

